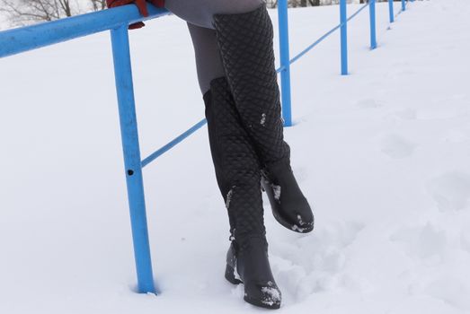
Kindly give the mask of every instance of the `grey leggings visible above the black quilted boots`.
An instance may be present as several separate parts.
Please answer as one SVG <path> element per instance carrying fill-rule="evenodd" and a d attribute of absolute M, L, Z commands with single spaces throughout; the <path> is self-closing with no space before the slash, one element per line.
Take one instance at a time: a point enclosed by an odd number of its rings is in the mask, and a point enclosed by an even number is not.
<path fill-rule="evenodd" d="M 225 75 L 214 31 L 214 14 L 253 11 L 263 0 L 165 0 L 165 7 L 188 22 L 196 56 L 200 92 L 208 92 L 210 82 Z"/>

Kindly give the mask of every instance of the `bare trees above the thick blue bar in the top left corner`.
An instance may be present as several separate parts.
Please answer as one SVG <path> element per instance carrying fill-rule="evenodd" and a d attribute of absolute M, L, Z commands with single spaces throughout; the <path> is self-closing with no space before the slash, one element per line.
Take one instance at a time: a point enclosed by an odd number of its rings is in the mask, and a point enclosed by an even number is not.
<path fill-rule="evenodd" d="M 0 12 L 13 25 L 58 20 L 75 14 L 72 0 L 0 0 Z"/>

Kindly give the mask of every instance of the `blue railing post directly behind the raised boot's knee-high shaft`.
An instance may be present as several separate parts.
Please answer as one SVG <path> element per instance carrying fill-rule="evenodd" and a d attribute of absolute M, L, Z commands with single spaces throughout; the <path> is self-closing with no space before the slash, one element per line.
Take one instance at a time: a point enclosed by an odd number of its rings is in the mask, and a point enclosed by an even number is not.
<path fill-rule="evenodd" d="M 292 126 L 292 105 L 290 95 L 290 57 L 288 48 L 288 0 L 279 0 L 278 16 L 282 118 L 284 118 L 284 126 Z"/>

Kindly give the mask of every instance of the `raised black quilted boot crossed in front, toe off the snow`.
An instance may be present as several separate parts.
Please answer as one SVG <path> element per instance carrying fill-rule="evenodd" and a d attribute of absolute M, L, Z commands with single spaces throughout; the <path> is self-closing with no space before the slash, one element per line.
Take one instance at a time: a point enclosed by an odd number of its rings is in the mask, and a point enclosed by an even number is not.
<path fill-rule="evenodd" d="M 298 188 L 284 141 L 273 30 L 266 7 L 216 14 L 214 27 L 236 109 L 262 162 L 262 186 L 274 217 L 292 231 L 312 231 L 314 215 Z"/>

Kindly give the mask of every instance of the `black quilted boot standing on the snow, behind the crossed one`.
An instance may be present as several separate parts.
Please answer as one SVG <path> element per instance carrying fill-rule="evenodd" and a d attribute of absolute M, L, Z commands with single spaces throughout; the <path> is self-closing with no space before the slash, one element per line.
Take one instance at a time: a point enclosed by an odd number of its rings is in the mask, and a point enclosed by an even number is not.
<path fill-rule="evenodd" d="M 226 279 L 244 283 L 245 301 L 279 309 L 281 295 L 268 259 L 258 156 L 240 124 L 225 77 L 211 82 L 204 102 L 217 184 L 226 202 L 232 235 Z"/>

